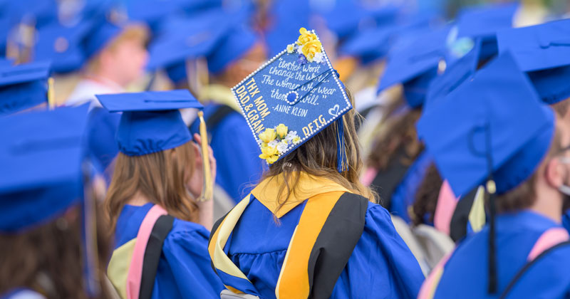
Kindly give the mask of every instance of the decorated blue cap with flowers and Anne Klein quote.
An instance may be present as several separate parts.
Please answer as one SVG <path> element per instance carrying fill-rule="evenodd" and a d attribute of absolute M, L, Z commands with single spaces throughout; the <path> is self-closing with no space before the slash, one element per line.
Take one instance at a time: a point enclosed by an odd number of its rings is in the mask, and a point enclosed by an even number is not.
<path fill-rule="evenodd" d="M 301 36 L 232 88 L 261 159 L 273 164 L 352 109 L 336 70 L 314 31 Z M 346 169 L 343 125 L 338 128 L 338 170 Z"/>

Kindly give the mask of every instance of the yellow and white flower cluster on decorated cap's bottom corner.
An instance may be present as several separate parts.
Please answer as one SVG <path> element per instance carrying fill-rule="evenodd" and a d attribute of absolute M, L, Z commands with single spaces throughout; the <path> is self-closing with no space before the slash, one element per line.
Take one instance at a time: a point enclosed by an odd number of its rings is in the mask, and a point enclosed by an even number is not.
<path fill-rule="evenodd" d="M 289 131 L 284 124 L 279 124 L 273 129 L 265 129 L 259 134 L 261 143 L 261 154 L 259 157 L 265 159 L 267 164 L 273 164 L 281 154 L 284 154 L 291 145 L 301 142 L 301 137 L 296 131 Z"/>

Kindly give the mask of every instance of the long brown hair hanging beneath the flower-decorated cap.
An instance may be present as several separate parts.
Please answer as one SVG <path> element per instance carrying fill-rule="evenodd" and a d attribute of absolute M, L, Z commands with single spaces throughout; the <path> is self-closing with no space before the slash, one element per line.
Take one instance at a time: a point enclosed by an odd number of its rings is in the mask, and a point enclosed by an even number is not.
<path fill-rule="evenodd" d="M 346 90 L 348 98 L 353 102 L 351 93 Z M 277 198 L 284 198 L 279 202 L 276 211 L 287 202 L 291 193 L 296 191 L 299 183 L 299 172 L 306 172 L 315 177 L 330 179 L 342 187 L 345 187 L 354 194 L 366 197 L 368 200 L 376 202 L 377 195 L 370 188 L 365 187 L 358 174 L 361 172 L 363 162 L 361 159 L 360 145 L 356 128 L 354 126 L 355 117 L 360 117 L 356 110 L 346 112 L 342 117 L 344 147 L 348 160 L 348 170 L 339 173 L 337 171 L 337 130 L 340 120 L 336 120 L 293 152 L 282 157 L 279 161 L 271 164 L 269 171 L 265 172 L 262 179 L 272 179 L 278 175 L 284 176 L 285 184 L 279 187 Z M 289 182 L 292 182 L 289 185 Z M 318 186 L 315 186 L 318 188 Z M 286 196 L 281 197 L 286 192 Z M 275 211 L 275 212 L 276 212 Z"/>

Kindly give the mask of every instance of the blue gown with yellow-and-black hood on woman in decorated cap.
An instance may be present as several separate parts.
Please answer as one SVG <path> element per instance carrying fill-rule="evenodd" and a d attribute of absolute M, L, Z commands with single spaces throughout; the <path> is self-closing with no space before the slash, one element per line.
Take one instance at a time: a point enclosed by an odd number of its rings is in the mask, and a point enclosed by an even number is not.
<path fill-rule="evenodd" d="M 224 285 L 260 298 L 416 298 L 424 276 L 388 211 L 327 179 L 301 174 L 299 192 L 273 214 L 280 184 L 264 180 L 214 226 L 209 251 Z"/>

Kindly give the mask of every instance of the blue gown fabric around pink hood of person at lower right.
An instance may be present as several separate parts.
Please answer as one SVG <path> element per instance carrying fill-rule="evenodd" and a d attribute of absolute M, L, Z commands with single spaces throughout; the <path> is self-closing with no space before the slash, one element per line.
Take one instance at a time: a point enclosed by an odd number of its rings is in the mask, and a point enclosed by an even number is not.
<path fill-rule="evenodd" d="M 527 262 L 534 243 L 547 229 L 560 227 L 532 211 L 497 216 L 497 290 L 501 293 Z M 445 265 L 434 298 L 497 298 L 487 294 L 489 226 L 468 236 Z M 522 276 L 508 298 L 569 298 L 570 246 L 559 248 Z"/>

